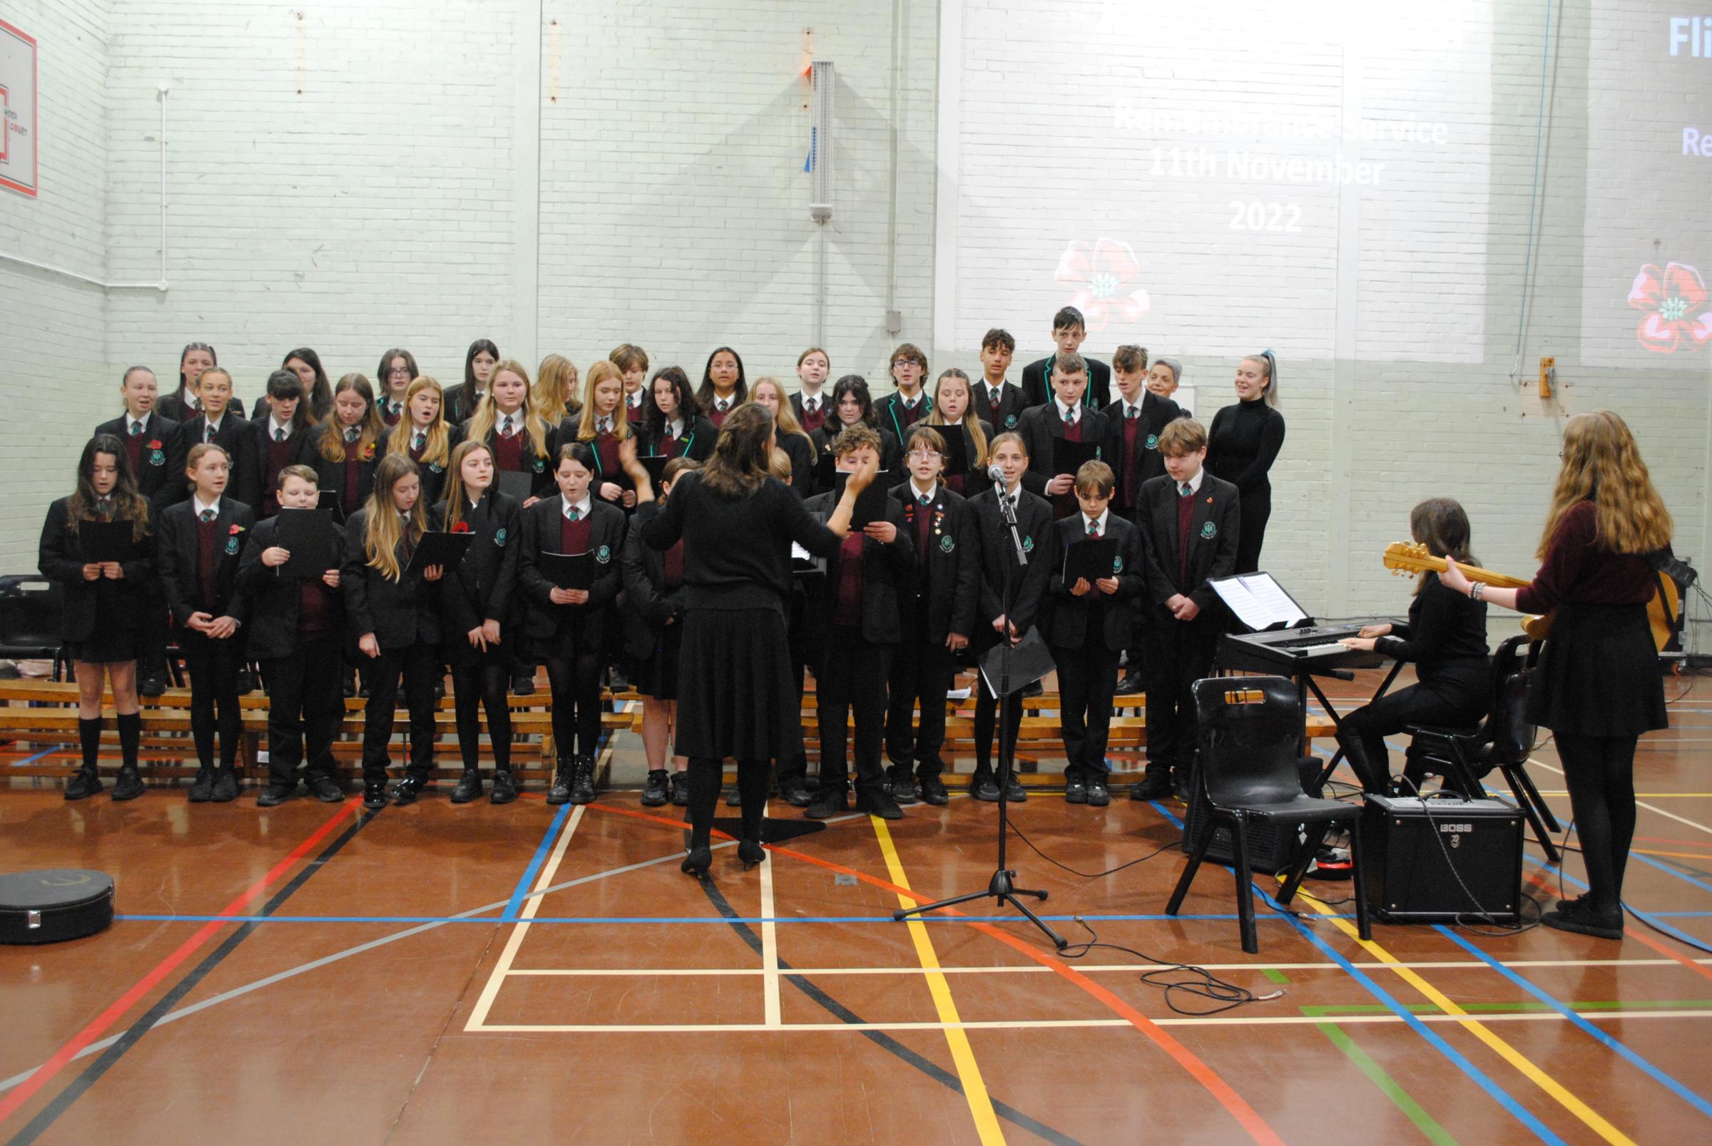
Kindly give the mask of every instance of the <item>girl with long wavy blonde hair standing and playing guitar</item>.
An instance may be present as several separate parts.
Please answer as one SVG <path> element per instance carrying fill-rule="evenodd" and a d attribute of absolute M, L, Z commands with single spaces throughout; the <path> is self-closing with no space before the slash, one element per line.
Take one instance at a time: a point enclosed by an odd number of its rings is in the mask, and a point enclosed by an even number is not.
<path fill-rule="evenodd" d="M 1669 724 L 1647 602 L 1659 592 L 1654 561 L 1669 556 L 1671 515 L 1633 434 L 1611 411 L 1572 417 L 1560 457 L 1534 580 L 1524 588 L 1471 583 L 1453 558 L 1442 580 L 1476 600 L 1553 614 L 1527 720 L 1553 732 L 1589 889 L 1541 922 L 1621 939 L 1635 744 Z"/>

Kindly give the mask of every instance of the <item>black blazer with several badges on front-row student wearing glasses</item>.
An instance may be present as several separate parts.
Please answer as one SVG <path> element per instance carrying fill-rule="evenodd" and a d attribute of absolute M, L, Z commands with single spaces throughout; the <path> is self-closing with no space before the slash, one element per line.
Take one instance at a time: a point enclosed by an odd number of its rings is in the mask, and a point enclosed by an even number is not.
<path fill-rule="evenodd" d="M 914 486 L 892 486 L 892 499 L 904 511 L 909 541 L 919 537 L 916 515 L 923 511 Z M 904 640 L 943 645 L 952 633 L 974 636 L 974 612 L 981 595 L 981 551 L 974 539 L 969 503 L 940 482 L 933 491 L 928 546 L 916 554 L 916 566 L 902 583 Z"/>

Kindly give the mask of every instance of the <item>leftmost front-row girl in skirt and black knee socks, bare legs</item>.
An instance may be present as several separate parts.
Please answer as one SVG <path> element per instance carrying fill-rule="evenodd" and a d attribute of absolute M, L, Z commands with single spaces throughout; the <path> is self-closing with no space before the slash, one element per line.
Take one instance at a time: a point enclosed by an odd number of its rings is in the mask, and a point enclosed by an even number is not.
<path fill-rule="evenodd" d="M 128 522 L 134 556 L 125 561 L 84 561 L 77 534 L 86 522 Z M 60 638 L 77 676 L 77 739 L 84 759 L 65 785 L 65 799 L 80 800 L 103 787 L 98 768 L 101 691 L 111 684 L 122 754 L 113 799 L 134 800 L 144 792 L 137 775 L 142 739 L 137 643 L 146 583 L 154 578 L 154 541 L 149 503 L 137 493 L 125 443 L 118 438 L 99 434 L 84 445 L 77 460 L 77 487 L 48 506 L 38 568 L 50 582 L 65 587 Z"/>

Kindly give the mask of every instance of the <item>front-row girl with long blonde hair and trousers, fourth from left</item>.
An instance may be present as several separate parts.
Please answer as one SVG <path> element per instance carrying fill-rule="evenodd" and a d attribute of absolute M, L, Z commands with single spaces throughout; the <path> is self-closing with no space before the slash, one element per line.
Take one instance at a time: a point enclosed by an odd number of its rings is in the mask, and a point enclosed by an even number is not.
<path fill-rule="evenodd" d="M 428 529 L 416 464 L 392 453 L 375 467 L 375 491 L 346 523 L 341 583 L 358 652 L 368 659 L 368 705 L 363 708 L 363 804 L 385 806 L 387 744 L 392 710 L 404 679 L 411 715 L 411 761 L 392 789 L 395 804 L 414 804 L 433 775 L 435 701 L 440 667 L 440 614 L 435 582 L 440 566 L 406 575 Z"/>

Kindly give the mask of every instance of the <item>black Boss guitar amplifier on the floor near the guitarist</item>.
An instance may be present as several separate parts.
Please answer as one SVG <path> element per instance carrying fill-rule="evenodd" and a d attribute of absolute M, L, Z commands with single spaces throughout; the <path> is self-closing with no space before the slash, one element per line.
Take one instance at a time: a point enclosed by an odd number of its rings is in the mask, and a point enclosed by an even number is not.
<path fill-rule="evenodd" d="M 1519 922 L 1522 823 L 1503 800 L 1366 797 L 1368 910 L 1392 924 L 1452 924 L 1465 915 Z"/>

